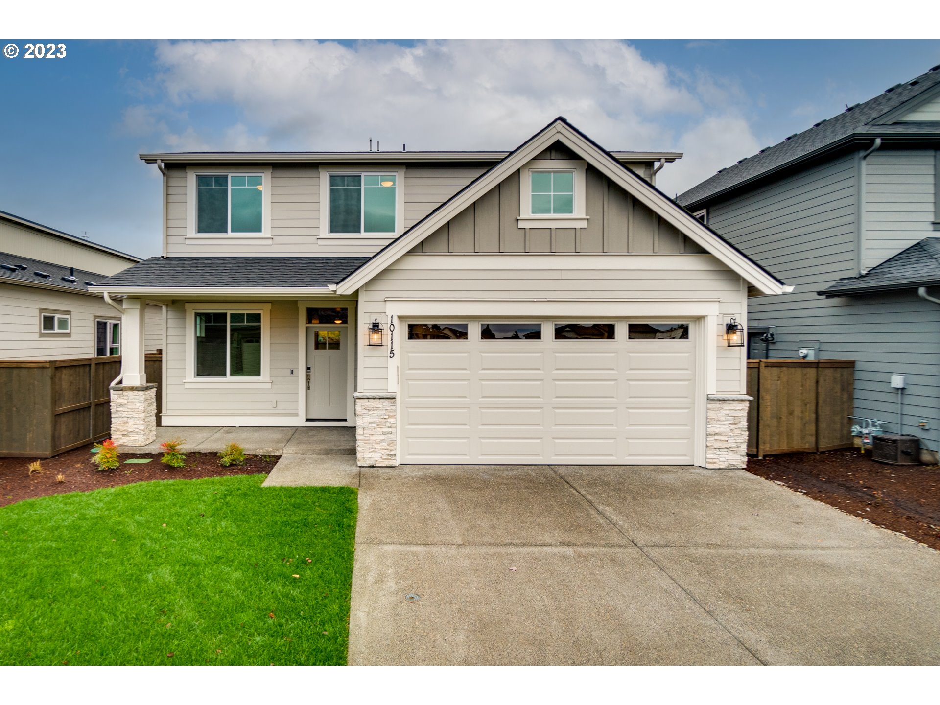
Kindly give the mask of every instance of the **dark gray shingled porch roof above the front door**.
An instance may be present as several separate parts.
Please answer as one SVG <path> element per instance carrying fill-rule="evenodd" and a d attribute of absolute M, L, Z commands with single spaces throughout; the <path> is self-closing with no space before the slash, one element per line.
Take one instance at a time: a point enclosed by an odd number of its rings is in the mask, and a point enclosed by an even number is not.
<path fill-rule="evenodd" d="M 99 281 L 111 287 L 322 289 L 368 257 L 151 257 Z"/>

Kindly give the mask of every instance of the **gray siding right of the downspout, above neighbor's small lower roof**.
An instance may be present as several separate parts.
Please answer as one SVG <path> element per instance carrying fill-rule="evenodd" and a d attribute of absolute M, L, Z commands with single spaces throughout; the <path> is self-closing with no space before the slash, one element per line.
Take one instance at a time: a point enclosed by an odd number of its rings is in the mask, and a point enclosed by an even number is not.
<path fill-rule="evenodd" d="M 879 149 L 865 161 L 863 269 L 935 234 L 934 155 L 933 149 Z"/>

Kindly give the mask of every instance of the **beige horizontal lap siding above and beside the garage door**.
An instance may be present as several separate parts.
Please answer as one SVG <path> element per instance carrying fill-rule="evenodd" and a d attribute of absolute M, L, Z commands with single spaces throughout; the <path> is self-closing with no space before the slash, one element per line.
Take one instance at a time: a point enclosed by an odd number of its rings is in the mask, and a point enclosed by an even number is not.
<path fill-rule="evenodd" d="M 526 267 L 525 256 L 518 258 L 520 267 L 513 270 L 411 269 L 405 255 L 378 274 L 359 290 L 360 319 L 373 317 L 386 320 L 387 298 L 446 299 L 720 299 L 722 315 L 743 318 L 744 287 L 741 277 L 717 262 L 710 255 L 697 255 L 701 269 L 670 270 L 664 257 L 658 270 L 569 270 L 563 261 L 554 269 Z M 461 257 L 458 255 L 457 257 Z M 507 255 L 506 257 L 513 257 Z M 442 293 L 446 292 L 446 293 Z M 399 326 L 397 336 L 406 335 Z M 706 341 L 706 344 L 709 344 Z M 740 348 L 717 347 L 717 391 L 727 394 L 744 392 L 744 362 Z M 381 392 L 388 388 L 388 350 L 361 349 L 357 389 Z"/>

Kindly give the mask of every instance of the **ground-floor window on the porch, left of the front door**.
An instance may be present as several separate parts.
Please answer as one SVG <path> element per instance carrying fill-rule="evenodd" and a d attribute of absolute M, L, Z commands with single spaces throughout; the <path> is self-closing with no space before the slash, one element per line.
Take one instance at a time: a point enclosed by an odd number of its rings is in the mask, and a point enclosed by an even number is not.
<path fill-rule="evenodd" d="M 196 310 L 194 369 L 196 379 L 261 377 L 263 334 L 260 310 Z"/>

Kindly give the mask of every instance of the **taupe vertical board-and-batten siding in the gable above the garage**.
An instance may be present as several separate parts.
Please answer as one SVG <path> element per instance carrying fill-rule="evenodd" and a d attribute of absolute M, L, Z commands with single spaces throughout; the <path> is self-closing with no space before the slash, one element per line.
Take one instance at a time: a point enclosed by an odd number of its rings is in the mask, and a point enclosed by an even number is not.
<path fill-rule="evenodd" d="M 546 150 L 540 159 L 567 158 Z M 557 152 L 557 154 L 556 154 Z M 447 252 L 700 253 L 702 249 L 619 186 L 588 167 L 587 227 L 519 227 L 517 171 L 412 249 Z"/>

